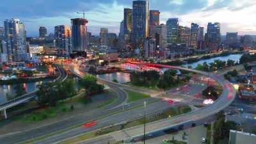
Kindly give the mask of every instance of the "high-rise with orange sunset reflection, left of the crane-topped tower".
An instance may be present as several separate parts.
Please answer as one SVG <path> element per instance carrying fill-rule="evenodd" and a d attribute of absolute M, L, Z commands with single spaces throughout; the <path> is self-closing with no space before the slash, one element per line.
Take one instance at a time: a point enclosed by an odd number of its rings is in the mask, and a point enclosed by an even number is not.
<path fill-rule="evenodd" d="M 72 32 L 69 26 L 55 26 L 54 27 L 54 44 L 58 47 L 59 52 L 63 54 L 70 54 L 72 47 Z"/>

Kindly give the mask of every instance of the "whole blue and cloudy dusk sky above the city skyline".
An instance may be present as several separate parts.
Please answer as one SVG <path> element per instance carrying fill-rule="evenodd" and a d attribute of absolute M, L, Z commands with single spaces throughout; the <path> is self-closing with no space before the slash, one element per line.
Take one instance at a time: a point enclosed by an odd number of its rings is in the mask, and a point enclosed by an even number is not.
<path fill-rule="evenodd" d="M 255 0 L 149 0 L 150 10 L 161 11 L 161 23 L 178 17 L 180 25 L 196 22 L 206 28 L 207 22 L 221 22 L 221 34 L 239 32 L 256 35 Z M 53 32 L 54 26 L 70 26 L 70 19 L 83 17 L 86 11 L 88 31 L 99 35 L 99 29 L 119 33 L 124 8 L 132 8 L 131 0 L 1 0 L 0 26 L 5 19 L 18 18 L 26 25 L 28 36 L 38 36 L 39 26 Z"/>

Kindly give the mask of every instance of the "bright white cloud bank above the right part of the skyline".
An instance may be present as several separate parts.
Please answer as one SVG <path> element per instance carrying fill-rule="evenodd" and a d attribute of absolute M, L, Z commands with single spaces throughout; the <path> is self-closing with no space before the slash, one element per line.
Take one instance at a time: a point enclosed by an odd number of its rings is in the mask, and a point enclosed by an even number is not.
<path fill-rule="evenodd" d="M 238 2 L 237 2 L 238 3 Z M 234 6 L 237 8 L 238 6 Z M 243 4 L 242 4 L 243 5 Z M 234 11 L 229 6 L 215 8 L 214 10 L 195 10 L 191 13 L 183 15 L 175 15 L 179 17 L 181 25 L 190 26 L 191 22 L 196 22 L 200 26 L 207 28 L 207 22 L 220 22 L 221 33 L 225 35 L 227 31 L 237 31 L 240 35 L 256 34 L 256 21 L 252 20 L 255 17 L 256 5 L 251 5 L 247 8 L 240 8 Z M 170 12 L 162 12 L 163 22 L 169 17 L 173 17 Z"/>

